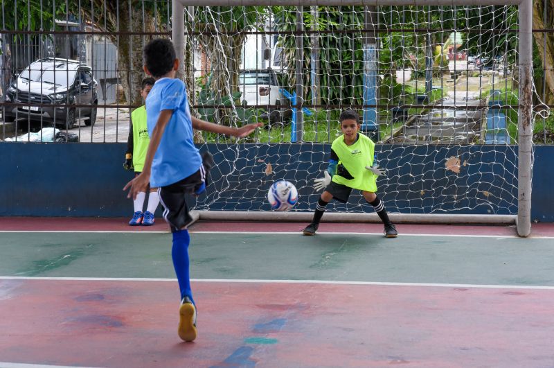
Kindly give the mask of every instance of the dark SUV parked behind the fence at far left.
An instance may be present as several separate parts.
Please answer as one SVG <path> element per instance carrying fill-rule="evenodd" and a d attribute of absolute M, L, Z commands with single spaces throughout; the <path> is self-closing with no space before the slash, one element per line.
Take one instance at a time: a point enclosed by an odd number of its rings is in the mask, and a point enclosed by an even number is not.
<path fill-rule="evenodd" d="M 70 129 L 82 117 L 85 125 L 93 125 L 98 105 L 97 86 L 87 64 L 68 59 L 37 60 L 15 78 L 5 94 L 8 103 L 28 105 L 6 107 L 4 121 L 42 120 Z"/>

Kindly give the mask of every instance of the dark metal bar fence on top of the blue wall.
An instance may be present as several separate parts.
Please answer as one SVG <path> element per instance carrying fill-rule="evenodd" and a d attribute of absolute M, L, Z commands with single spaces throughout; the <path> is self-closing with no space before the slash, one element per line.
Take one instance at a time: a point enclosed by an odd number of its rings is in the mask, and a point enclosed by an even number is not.
<path fill-rule="evenodd" d="M 553 144 L 553 1 L 533 10 L 533 139 Z M 170 37 L 171 2 L 14 0 L 1 12 L 0 139 L 127 141 L 141 51 Z M 345 108 L 383 143 L 517 143 L 515 6 L 188 7 L 185 18 L 191 111 L 264 123 L 254 143 L 330 142 Z"/>

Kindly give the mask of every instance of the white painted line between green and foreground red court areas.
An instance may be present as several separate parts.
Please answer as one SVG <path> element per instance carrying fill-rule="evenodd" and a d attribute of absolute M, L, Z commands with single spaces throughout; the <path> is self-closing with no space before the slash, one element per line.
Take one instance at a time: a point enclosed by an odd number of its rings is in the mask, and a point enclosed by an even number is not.
<path fill-rule="evenodd" d="M 51 281 L 171 281 L 177 279 L 152 279 L 133 277 L 28 277 L 28 276 L 0 276 L 0 280 L 51 280 Z M 250 280 L 250 279 L 191 279 L 193 282 L 217 283 L 318 283 L 329 285 L 371 285 L 371 286 L 423 286 L 438 288 L 481 288 L 481 289 L 529 289 L 554 290 L 554 286 L 533 285 L 480 285 L 471 283 L 412 283 L 412 282 L 379 282 L 379 281 L 328 281 L 328 280 Z M 0 366 L 1 367 L 1 366 Z"/>

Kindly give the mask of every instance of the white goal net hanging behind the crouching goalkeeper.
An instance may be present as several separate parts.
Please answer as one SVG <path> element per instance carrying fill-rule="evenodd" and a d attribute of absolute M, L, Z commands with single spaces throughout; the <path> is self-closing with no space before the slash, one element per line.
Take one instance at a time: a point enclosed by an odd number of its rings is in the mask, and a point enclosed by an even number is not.
<path fill-rule="evenodd" d="M 378 186 L 389 211 L 517 213 L 517 7 L 305 7 L 299 18 L 297 10 L 186 16 L 197 115 L 265 124 L 244 145 L 198 137 L 219 164 L 197 209 L 269 209 L 264 195 L 281 178 L 300 192 L 296 210 L 313 209 L 312 180 L 327 166 L 340 112 L 352 108 L 382 143 L 377 160 L 388 175 Z M 292 103 L 298 83 L 302 106 Z M 329 209 L 368 206 L 356 195 Z"/>

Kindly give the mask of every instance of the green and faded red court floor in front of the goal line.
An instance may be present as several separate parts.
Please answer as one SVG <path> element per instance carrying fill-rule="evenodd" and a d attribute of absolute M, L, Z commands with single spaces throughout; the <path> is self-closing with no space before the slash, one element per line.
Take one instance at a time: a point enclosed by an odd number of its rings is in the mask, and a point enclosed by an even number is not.
<path fill-rule="evenodd" d="M 165 230 L 1 232 L 0 367 L 554 367 L 551 236 L 202 226 L 195 342 Z"/>

